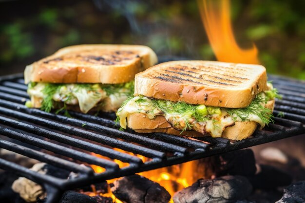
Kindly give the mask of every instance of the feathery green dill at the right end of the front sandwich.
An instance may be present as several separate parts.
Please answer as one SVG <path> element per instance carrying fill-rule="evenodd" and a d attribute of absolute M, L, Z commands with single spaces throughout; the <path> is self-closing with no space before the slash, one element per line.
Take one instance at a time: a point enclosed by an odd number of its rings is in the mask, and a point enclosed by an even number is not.
<path fill-rule="evenodd" d="M 257 95 L 251 104 L 246 108 L 228 109 L 229 115 L 236 121 L 238 118 L 241 121 L 249 121 L 249 115 L 257 115 L 264 124 L 273 122 L 272 111 L 264 106 L 267 103 L 267 98 L 263 98 L 262 95 Z"/>

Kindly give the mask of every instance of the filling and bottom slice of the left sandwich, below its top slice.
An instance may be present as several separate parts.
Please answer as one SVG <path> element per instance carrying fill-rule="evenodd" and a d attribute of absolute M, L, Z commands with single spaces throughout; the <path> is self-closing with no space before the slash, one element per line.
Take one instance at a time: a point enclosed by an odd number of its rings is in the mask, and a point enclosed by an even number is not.
<path fill-rule="evenodd" d="M 31 101 L 26 106 L 47 112 L 52 109 L 111 112 L 117 111 L 133 90 L 134 81 L 122 84 L 30 82 L 27 92 Z"/>

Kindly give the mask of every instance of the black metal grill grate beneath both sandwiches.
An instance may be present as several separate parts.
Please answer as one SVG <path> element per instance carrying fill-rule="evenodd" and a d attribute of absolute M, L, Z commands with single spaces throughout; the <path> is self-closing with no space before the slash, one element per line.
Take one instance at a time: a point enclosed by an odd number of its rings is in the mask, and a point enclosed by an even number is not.
<path fill-rule="evenodd" d="M 54 192 L 49 194 L 48 203 L 56 203 L 64 190 L 305 133 L 305 82 L 272 75 L 269 79 L 283 95 L 283 100 L 276 101 L 274 115 L 284 112 L 285 117 L 275 117 L 274 124 L 258 130 L 252 138 L 231 143 L 223 138 L 195 140 L 163 133 L 119 131 L 111 114 L 96 117 L 71 112 L 73 118 L 68 118 L 28 109 L 24 106 L 29 98 L 22 74 L 1 77 L 0 148 L 74 171 L 79 176 L 72 180 L 58 179 L 3 159 L 0 159 L 0 168 L 52 188 Z M 143 163 L 137 156 L 113 148 L 149 159 Z M 129 163 L 129 166 L 120 168 L 113 159 Z M 106 171 L 96 174 L 79 163 L 101 166 Z"/>

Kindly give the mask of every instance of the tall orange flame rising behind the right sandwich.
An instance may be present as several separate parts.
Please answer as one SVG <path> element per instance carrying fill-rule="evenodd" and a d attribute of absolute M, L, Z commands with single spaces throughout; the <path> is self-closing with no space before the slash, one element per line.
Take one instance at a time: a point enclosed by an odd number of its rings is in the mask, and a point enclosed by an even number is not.
<path fill-rule="evenodd" d="M 258 50 L 241 49 L 233 35 L 230 0 L 198 0 L 201 19 L 217 60 L 233 63 L 259 64 Z"/>

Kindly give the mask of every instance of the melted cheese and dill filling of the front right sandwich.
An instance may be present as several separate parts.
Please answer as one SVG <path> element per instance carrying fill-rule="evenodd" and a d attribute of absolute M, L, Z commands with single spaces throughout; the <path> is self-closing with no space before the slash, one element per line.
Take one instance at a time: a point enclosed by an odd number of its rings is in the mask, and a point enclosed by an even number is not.
<path fill-rule="evenodd" d="M 133 113 L 143 113 L 149 119 L 164 116 L 177 130 L 195 130 L 212 137 L 221 137 L 226 127 L 237 121 L 255 121 L 264 128 L 272 121 L 272 111 L 265 107 L 269 100 L 279 97 L 277 90 L 268 84 L 269 90 L 260 92 L 246 108 L 232 109 L 205 105 L 193 105 L 185 102 L 153 99 L 136 96 L 125 101 L 117 111 L 117 121 L 121 128 L 127 128 L 127 117 Z"/>

